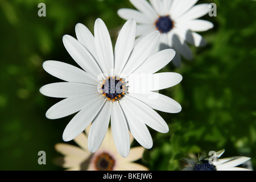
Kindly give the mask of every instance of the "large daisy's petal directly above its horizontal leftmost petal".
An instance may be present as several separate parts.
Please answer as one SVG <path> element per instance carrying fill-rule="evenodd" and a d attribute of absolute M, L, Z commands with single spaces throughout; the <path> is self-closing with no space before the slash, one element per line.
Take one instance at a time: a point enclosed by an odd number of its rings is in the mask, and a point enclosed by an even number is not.
<path fill-rule="evenodd" d="M 60 61 L 44 61 L 43 68 L 52 76 L 64 81 L 98 85 L 96 78 L 71 64 Z"/>

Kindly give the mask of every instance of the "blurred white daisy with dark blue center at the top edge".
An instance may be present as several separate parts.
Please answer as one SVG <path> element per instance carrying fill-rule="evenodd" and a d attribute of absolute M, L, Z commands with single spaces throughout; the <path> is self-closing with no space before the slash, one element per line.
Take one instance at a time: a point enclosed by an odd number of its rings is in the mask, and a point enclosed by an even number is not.
<path fill-rule="evenodd" d="M 196 32 L 213 28 L 213 23 L 197 19 L 209 12 L 209 4 L 195 5 L 198 0 L 130 0 L 134 9 L 119 9 L 118 15 L 123 19 L 133 18 L 138 23 L 138 39 L 148 32 L 159 30 L 161 38 L 158 50 L 171 47 L 176 55 L 172 62 L 176 67 L 181 64 L 180 55 L 193 59 L 187 43 L 196 47 L 204 46 L 205 40 Z M 195 5 L 195 6 L 194 6 Z"/>

